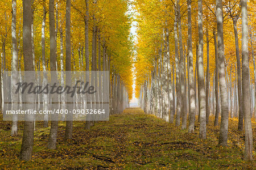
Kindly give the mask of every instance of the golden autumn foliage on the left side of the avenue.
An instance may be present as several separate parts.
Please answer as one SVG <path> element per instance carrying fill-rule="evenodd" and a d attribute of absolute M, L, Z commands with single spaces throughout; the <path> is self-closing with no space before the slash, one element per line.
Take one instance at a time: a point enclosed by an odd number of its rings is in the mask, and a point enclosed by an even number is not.
<path fill-rule="evenodd" d="M 129 96 L 132 96 L 132 49 L 133 44 L 130 36 L 131 16 L 127 14 L 129 1 L 125 0 L 102 0 L 89 2 L 89 56 L 92 53 L 92 27 L 96 24 L 101 36 L 101 51 L 105 46 L 110 56 L 110 70 L 121 76 L 122 82 L 125 84 Z M 43 19 L 43 0 L 32 1 L 32 11 L 34 16 L 34 49 L 35 49 L 35 69 L 42 69 L 42 19 Z M 11 0 L 0 2 L 3 7 L 0 10 L 0 37 L 1 37 L 1 53 L 2 65 L 6 63 L 6 69 L 11 70 Z M 49 1 L 46 1 L 46 64 L 49 70 Z M 57 69 L 60 70 L 60 28 L 63 29 L 63 45 L 65 49 L 65 1 L 55 0 L 55 25 L 57 28 Z M 72 43 L 72 70 L 85 70 L 79 63 L 79 49 L 85 44 L 85 24 L 84 17 L 85 1 L 71 1 L 71 43 Z M 93 15 L 96 20 L 94 23 Z M 56 17 L 56 16 L 55 16 Z M 58 20 L 58 22 L 57 22 Z M 17 1 L 16 15 L 16 32 L 19 50 L 20 69 L 23 70 L 23 54 L 22 54 L 22 1 Z M 105 42 L 103 42 L 105 40 Z M 4 49 L 5 48 L 5 49 Z M 5 52 L 3 52 L 5 50 Z M 97 46 L 98 51 L 98 46 Z M 4 54 L 5 55 L 4 55 Z M 85 54 L 85 48 L 83 48 Z M 4 56 L 4 57 L 3 57 Z M 98 53 L 97 53 L 98 56 Z M 102 57 L 102 52 L 101 52 Z M 5 59 L 4 59 L 5 58 Z M 85 63 L 85 57 L 82 58 Z M 65 52 L 64 52 L 65 65 Z M 101 59 L 102 62 L 102 59 Z M 101 67 L 102 68 L 102 67 Z"/>

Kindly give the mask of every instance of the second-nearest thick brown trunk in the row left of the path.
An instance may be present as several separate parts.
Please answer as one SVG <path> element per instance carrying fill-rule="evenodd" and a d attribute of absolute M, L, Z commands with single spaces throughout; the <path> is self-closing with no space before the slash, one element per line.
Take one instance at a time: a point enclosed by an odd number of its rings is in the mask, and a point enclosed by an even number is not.
<path fill-rule="evenodd" d="M 49 1 L 49 33 L 50 33 L 50 69 L 51 69 L 51 86 L 53 82 L 57 80 L 57 73 L 56 73 L 56 41 L 55 41 L 55 17 L 54 17 L 54 6 L 55 0 Z M 57 109 L 57 95 L 51 94 L 51 110 Z M 51 129 L 49 133 L 49 149 L 56 148 L 56 141 L 57 141 L 57 130 L 58 130 L 58 121 L 57 121 L 57 114 L 51 115 Z"/>

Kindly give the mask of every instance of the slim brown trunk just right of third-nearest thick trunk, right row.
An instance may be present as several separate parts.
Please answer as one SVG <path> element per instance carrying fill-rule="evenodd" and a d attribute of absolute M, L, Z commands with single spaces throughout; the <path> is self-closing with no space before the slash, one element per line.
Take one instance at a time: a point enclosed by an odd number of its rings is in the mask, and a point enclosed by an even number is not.
<path fill-rule="evenodd" d="M 209 67 L 210 67 L 210 61 L 209 61 L 209 34 L 208 34 L 208 28 L 207 28 L 207 79 L 206 79 L 206 123 L 209 122 L 209 116 L 210 116 L 210 109 L 209 109 Z"/>

